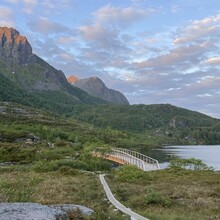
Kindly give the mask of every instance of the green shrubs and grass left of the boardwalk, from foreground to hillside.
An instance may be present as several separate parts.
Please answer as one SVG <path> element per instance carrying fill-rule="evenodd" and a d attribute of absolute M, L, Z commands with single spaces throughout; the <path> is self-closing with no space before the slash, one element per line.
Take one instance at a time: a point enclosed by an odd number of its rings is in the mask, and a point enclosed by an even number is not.
<path fill-rule="evenodd" d="M 94 209 L 92 219 L 128 219 L 109 206 L 94 173 L 109 172 L 112 164 L 91 155 L 123 139 L 123 132 L 1 103 L 0 162 L 16 165 L 0 166 L 0 202 L 80 204 Z"/>

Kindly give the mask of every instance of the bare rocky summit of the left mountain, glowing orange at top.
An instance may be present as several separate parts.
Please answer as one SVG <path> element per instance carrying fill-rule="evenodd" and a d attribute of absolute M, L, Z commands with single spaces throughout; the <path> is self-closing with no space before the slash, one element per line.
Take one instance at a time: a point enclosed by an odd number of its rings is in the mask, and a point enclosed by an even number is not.
<path fill-rule="evenodd" d="M 17 64 L 27 64 L 32 56 L 32 48 L 27 38 L 7 27 L 0 27 L 0 57 Z"/>

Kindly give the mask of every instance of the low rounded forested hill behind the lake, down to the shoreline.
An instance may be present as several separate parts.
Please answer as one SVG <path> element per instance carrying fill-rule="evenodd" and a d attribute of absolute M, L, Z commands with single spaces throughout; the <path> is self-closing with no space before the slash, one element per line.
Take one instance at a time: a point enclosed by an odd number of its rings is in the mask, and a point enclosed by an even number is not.
<path fill-rule="evenodd" d="M 76 106 L 70 114 L 97 127 L 175 137 L 181 144 L 219 144 L 220 120 L 169 104 Z M 165 140 L 164 143 L 165 144 Z"/>

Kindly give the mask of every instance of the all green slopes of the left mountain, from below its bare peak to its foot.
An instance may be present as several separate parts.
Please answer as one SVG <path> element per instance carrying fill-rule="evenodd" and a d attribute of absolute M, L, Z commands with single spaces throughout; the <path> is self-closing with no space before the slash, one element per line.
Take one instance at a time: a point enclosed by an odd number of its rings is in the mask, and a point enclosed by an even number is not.
<path fill-rule="evenodd" d="M 17 65 L 0 60 L 0 101 L 15 102 L 62 114 L 73 111 L 73 105 L 76 104 L 106 103 L 102 99 L 89 96 L 86 92 L 71 86 L 65 80 L 63 73 L 40 58 L 35 57 L 35 59 L 37 59 L 36 63 L 28 65 Z M 53 73 L 50 76 L 52 78 L 45 79 L 47 72 Z M 54 84 L 59 90 L 33 90 L 32 87 L 36 82 L 42 85 L 52 82 L 52 85 Z"/>

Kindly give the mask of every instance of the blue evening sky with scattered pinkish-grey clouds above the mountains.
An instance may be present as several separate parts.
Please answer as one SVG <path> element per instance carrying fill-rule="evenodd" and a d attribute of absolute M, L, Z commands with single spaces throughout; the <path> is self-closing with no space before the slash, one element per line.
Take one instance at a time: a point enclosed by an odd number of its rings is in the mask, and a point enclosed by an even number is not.
<path fill-rule="evenodd" d="M 66 76 L 97 76 L 130 104 L 220 118 L 219 0 L 0 0 L 0 26 Z"/>

